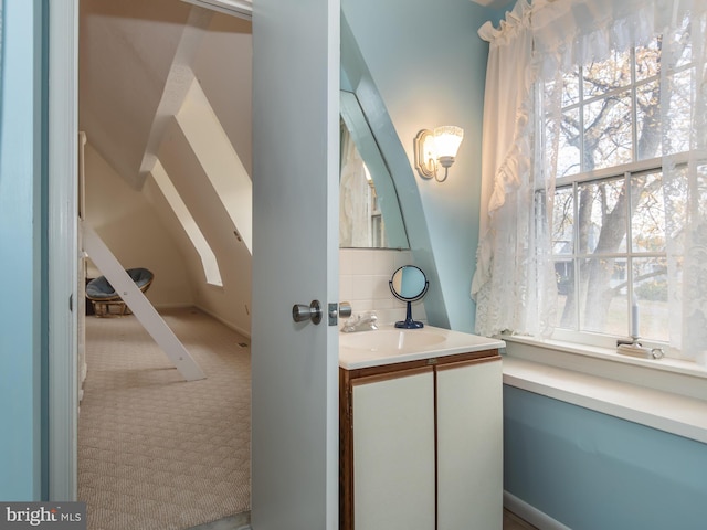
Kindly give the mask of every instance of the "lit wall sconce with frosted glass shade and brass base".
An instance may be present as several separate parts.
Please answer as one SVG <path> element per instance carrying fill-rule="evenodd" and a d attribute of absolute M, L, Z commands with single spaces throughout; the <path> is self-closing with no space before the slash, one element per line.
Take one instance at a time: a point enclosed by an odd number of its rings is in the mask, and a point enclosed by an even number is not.
<path fill-rule="evenodd" d="M 434 131 L 422 129 L 415 137 L 415 169 L 423 179 L 444 182 L 450 166 L 464 138 L 464 129 L 453 125 L 443 125 Z M 444 168 L 444 177 L 437 174 L 439 166 Z"/>

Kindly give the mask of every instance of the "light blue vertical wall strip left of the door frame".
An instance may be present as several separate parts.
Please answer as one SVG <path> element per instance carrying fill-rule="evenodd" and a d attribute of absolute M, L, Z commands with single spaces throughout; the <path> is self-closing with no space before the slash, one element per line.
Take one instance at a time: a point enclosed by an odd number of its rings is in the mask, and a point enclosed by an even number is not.
<path fill-rule="evenodd" d="M 0 102 L 0 500 L 42 496 L 42 6 L 3 4 Z"/>

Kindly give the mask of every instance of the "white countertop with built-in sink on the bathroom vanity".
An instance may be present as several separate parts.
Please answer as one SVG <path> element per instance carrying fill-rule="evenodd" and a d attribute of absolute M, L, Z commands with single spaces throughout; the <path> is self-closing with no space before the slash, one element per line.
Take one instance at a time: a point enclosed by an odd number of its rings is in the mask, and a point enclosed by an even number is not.
<path fill-rule="evenodd" d="M 346 370 L 416 361 L 434 357 L 505 348 L 503 340 L 452 331 L 434 326 L 339 333 L 339 367 Z"/>

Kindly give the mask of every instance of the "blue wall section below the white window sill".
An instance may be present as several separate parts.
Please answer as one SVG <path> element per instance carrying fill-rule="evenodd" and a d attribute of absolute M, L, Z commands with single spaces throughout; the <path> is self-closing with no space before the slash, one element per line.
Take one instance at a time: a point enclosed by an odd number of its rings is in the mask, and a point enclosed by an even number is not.
<path fill-rule="evenodd" d="M 707 524 L 707 445 L 504 386 L 504 487 L 573 530 Z"/>

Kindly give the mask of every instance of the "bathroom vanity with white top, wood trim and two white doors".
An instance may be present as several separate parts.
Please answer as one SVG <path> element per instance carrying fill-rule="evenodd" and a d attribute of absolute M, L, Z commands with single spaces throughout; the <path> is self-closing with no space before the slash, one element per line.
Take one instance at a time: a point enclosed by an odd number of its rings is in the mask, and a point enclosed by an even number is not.
<path fill-rule="evenodd" d="M 500 340 L 341 333 L 340 528 L 500 529 Z"/>

